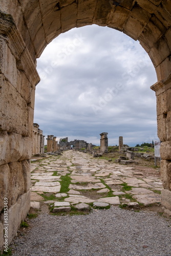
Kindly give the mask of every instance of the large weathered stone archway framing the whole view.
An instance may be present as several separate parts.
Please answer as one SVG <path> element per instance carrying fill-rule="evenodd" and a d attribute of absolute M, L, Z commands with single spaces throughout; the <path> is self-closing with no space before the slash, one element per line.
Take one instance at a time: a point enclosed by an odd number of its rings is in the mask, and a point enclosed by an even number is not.
<path fill-rule="evenodd" d="M 4 198 L 8 198 L 8 243 L 30 207 L 30 163 L 36 58 L 47 44 L 74 27 L 118 29 L 148 53 L 158 82 L 162 203 L 171 210 L 171 5 L 169 0 L 0 0 L 0 248 Z"/>

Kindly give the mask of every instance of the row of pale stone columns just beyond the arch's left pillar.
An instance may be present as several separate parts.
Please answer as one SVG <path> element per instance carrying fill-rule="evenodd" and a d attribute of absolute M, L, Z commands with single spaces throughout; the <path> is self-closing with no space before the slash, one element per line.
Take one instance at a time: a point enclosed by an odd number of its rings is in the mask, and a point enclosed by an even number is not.
<path fill-rule="evenodd" d="M 39 129 L 37 123 L 33 123 L 33 147 L 32 155 L 44 154 L 45 136 L 42 134 L 42 130 Z"/>

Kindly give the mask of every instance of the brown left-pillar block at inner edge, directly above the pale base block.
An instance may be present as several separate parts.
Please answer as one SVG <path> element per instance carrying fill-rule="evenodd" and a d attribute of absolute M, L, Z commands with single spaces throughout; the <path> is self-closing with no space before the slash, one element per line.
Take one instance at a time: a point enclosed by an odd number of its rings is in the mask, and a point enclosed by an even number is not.
<path fill-rule="evenodd" d="M 17 198 L 24 194 L 25 180 L 23 177 L 22 162 L 9 163 L 9 206 L 16 203 Z"/>

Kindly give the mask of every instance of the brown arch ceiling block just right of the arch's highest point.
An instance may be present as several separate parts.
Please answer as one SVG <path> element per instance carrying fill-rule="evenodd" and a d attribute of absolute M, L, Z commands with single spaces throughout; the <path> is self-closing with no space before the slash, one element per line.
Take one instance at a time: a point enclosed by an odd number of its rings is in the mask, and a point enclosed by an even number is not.
<path fill-rule="evenodd" d="M 98 0 L 93 23 L 99 26 L 105 26 L 108 22 L 111 11 L 112 5 L 110 4 L 110 1 Z"/>

